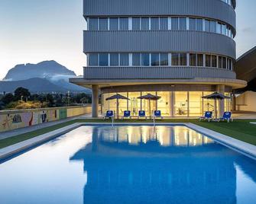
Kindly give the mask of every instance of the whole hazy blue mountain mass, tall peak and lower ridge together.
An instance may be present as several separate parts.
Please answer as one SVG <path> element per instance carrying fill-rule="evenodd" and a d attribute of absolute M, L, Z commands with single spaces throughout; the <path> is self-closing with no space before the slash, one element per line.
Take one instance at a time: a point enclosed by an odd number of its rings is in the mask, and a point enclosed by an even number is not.
<path fill-rule="evenodd" d="M 16 84 L 27 84 L 27 80 L 34 78 L 41 78 L 52 84 L 52 88 L 44 88 L 44 84 L 38 85 L 37 90 L 34 89 L 36 92 L 45 92 L 45 90 L 50 92 L 89 92 L 87 88 L 71 84 L 69 78 L 76 78 L 75 72 L 53 60 L 37 64 L 16 65 L 8 71 L 2 82 L 9 81 L 8 84 L 13 87 Z M 5 83 L 1 83 L 0 92 L 6 91 L 4 89 L 6 89 Z"/>

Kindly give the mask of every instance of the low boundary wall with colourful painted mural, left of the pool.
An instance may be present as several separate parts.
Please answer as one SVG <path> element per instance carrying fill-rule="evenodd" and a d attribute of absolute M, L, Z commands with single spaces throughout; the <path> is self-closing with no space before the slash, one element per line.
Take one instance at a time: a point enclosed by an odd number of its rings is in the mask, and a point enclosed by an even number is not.
<path fill-rule="evenodd" d="M 0 132 L 91 113 L 91 107 L 0 111 Z"/>

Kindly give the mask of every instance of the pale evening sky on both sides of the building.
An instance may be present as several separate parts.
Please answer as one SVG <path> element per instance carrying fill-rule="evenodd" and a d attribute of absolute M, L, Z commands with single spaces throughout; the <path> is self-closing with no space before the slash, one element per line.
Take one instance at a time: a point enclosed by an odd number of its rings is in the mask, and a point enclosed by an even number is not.
<path fill-rule="evenodd" d="M 256 1 L 237 0 L 237 57 L 256 46 Z M 0 0 L 0 79 L 18 64 L 55 60 L 83 74 L 83 0 Z"/>

